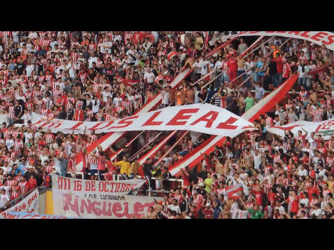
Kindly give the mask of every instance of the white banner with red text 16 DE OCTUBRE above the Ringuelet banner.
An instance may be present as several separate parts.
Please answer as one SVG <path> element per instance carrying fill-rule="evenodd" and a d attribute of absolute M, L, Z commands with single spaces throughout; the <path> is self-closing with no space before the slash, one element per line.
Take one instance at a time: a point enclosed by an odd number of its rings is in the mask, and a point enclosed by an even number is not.
<path fill-rule="evenodd" d="M 79 197 L 112 200 L 121 199 L 130 191 L 141 188 L 145 181 L 137 178 L 125 181 L 90 181 L 52 174 L 52 191 L 69 192 Z"/>

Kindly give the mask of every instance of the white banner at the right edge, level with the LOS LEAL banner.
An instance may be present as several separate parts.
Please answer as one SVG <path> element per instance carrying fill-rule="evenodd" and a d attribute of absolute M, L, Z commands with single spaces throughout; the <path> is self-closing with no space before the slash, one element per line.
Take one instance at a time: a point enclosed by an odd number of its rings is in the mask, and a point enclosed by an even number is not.
<path fill-rule="evenodd" d="M 328 119 L 324 122 L 299 121 L 285 126 L 271 126 L 267 128 L 267 131 L 280 135 L 281 137 L 284 137 L 287 131 L 291 131 L 294 133 L 294 136 L 297 136 L 298 131 L 303 132 L 302 128 L 308 132 L 308 136 L 305 138 L 306 140 L 310 139 L 311 132 L 315 132 L 316 135 L 321 135 L 324 140 L 329 140 L 330 136 L 334 134 L 334 119 Z M 303 132 L 303 134 L 305 133 Z"/>

